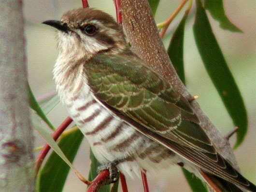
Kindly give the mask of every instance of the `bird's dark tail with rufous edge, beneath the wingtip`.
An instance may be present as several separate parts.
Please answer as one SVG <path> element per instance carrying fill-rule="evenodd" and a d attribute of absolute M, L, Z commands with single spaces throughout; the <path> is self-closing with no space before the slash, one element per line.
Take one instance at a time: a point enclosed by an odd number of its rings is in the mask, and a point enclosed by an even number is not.
<path fill-rule="evenodd" d="M 204 178 L 206 183 L 213 188 L 214 192 L 244 192 L 237 185 L 228 182 L 223 178 L 219 178 L 211 173 L 200 171 L 199 174 L 202 176 L 202 178 Z M 256 192 L 256 186 L 250 181 L 248 181 L 248 183 L 250 185 L 245 187 L 245 189 L 251 192 Z"/>

